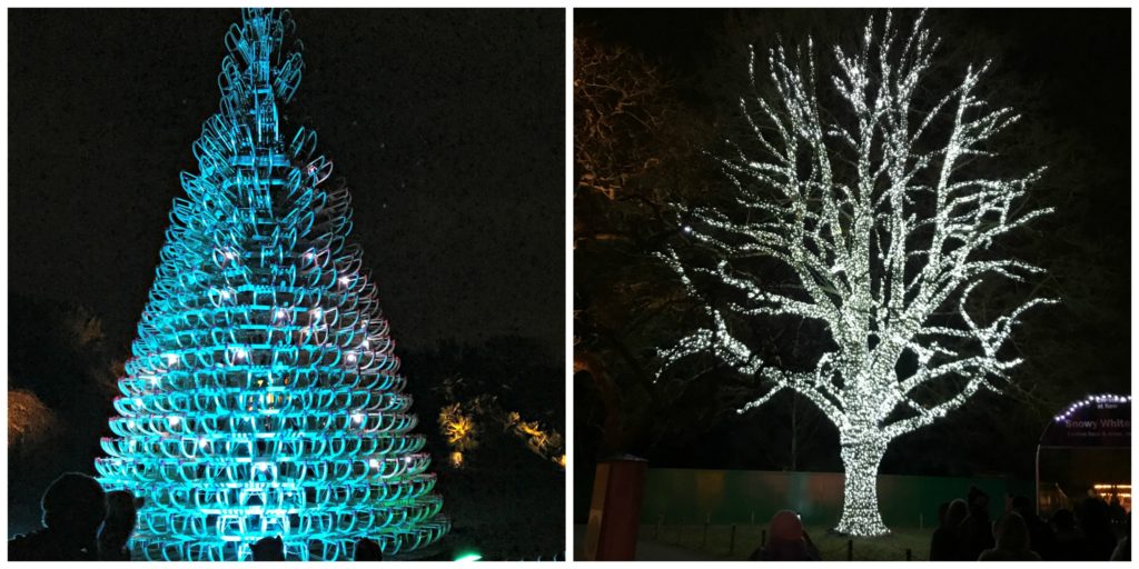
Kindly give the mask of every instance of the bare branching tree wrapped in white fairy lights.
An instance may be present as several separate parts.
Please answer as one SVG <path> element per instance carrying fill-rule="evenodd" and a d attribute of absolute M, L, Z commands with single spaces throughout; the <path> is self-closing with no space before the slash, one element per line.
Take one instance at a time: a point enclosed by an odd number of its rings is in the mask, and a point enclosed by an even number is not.
<path fill-rule="evenodd" d="M 970 164 L 995 156 L 986 142 L 1017 118 L 977 94 L 988 63 L 918 105 L 939 44 L 923 18 L 907 34 L 890 14 L 876 32 L 871 17 L 858 49 L 834 48 L 831 85 L 817 83 L 809 41 L 794 58 L 781 46 L 770 51 L 773 94 L 763 96 L 753 51 L 753 90 L 740 99 L 747 133 L 716 158 L 732 182 L 728 205 L 678 206 L 686 241 L 718 261 L 659 253 L 693 298 L 708 297 L 706 282 L 730 292 L 702 303 L 703 323 L 661 353 L 661 371 L 712 354 L 761 385 L 740 413 L 782 389 L 813 402 L 838 428 L 845 488 L 836 529 L 853 536 L 888 533 L 876 481 L 890 443 L 980 390 L 1007 388 L 1021 362 L 1006 347 L 1013 328 L 1054 302 L 1033 298 L 988 323 L 966 310 L 984 280 L 1042 272 L 992 245 L 1049 212 L 1024 199 L 1043 168 L 985 178 Z M 756 257 L 789 267 L 796 287 L 776 291 L 740 269 Z M 828 331 L 831 347 L 813 369 L 771 365 L 749 347 L 756 319 L 779 315 Z"/>

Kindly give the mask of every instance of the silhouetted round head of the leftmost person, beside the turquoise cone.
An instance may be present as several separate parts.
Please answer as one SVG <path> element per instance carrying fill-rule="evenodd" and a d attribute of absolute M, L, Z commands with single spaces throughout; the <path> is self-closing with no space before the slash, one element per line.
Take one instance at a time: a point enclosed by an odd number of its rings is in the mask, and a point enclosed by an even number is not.
<path fill-rule="evenodd" d="M 93 542 L 107 514 L 103 486 L 95 478 L 67 472 L 43 493 L 43 525 L 81 542 Z"/>

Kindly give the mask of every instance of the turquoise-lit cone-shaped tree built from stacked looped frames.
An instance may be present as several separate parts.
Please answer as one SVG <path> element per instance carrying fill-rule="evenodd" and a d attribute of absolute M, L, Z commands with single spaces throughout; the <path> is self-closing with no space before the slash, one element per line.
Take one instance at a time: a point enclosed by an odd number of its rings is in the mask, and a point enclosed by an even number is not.
<path fill-rule="evenodd" d="M 281 133 L 301 81 L 287 11 L 245 10 L 226 35 L 221 110 L 182 174 L 139 337 L 120 380 L 108 490 L 146 498 L 146 559 L 248 559 L 281 536 L 289 559 L 385 553 L 449 529 L 417 419 L 362 270 L 345 190 L 317 137 Z"/>

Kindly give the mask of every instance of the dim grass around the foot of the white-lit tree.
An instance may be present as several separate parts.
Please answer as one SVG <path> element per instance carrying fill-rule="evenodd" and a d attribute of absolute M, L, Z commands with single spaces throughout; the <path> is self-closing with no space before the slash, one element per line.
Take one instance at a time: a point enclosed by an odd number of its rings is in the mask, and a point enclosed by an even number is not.
<path fill-rule="evenodd" d="M 767 526 L 739 523 L 736 526 L 735 544 L 731 541 L 730 525 L 707 526 L 707 537 L 704 525 L 661 526 L 642 523 L 640 539 L 655 542 L 705 555 L 714 555 L 724 560 L 746 560 L 760 545 L 761 533 Z M 847 537 L 831 535 L 822 526 L 806 528 L 811 541 L 819 549 L 823 561 L 845 561 Z M 911 559 L 925 561 L 929 559 L 929 537 L 933 528 L 901 528 L 882 537 L 854 538 L 854 561 L 904 561 L 906 550 L 910 550 Z"/>

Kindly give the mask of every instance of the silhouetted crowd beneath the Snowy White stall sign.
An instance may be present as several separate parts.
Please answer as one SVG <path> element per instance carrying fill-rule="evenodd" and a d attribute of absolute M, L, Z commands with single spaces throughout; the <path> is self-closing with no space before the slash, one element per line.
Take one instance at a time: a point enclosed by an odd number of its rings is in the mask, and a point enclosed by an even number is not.
<path fill-rule="evenodd" d="M 1130 561 L 1131 516 L 1115 496 L 1081 502 L 1049 520 L 1032 501 L 1016 496 L 998 520 L 989 518 L 989 495 L 969 488 L 966 500 L 941 505 L 929 542 L 931 561 Z M 1122 537 L 1117 537 L 1122 534 Z"/>

